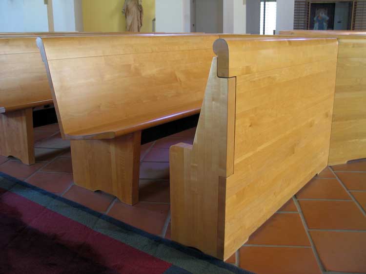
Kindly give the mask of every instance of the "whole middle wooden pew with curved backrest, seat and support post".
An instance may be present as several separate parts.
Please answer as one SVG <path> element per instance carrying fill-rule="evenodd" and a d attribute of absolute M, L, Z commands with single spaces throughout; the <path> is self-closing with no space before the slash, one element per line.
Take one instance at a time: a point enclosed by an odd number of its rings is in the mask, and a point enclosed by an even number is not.
<path fill-rule="evenodd" d="M 75 183 L 138 201 L 141 130 L 200 112 L 217 38 L 38 39 Z"/>

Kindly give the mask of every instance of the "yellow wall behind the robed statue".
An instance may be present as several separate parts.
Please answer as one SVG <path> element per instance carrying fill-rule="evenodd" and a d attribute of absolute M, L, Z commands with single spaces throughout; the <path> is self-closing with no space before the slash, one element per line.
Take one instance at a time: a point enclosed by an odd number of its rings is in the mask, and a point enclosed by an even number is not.
<path fill-rule="evenodd" d="M 126 20 L 122 15 L 124 0 L 82 0 L 82 20 L 85 32 L 123 32 Z M 142 32 L 152 31 L 155 0 L 142 0 Z"/>

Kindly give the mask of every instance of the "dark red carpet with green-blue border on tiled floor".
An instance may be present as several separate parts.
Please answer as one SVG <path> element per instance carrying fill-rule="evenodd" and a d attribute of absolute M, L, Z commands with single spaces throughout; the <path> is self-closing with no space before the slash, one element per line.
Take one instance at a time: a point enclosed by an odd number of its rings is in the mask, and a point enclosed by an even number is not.
<path fill-rule="evenodd" d="M 0 273 L 249 272 L 0 173 Z"/>

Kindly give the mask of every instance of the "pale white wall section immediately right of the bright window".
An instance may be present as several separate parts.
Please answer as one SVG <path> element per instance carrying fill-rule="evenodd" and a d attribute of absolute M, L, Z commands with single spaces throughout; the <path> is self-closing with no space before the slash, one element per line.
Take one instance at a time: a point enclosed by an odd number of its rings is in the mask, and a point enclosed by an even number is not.
<path fill-rule="evenodd" d="M 295 0 L 277 0 L 276 34 L 294 28 Z"/>

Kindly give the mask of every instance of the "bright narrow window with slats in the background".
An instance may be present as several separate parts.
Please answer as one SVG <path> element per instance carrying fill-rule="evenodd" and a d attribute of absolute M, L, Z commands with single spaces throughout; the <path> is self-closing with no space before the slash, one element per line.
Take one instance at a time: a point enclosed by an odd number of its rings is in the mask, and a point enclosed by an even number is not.
<path fill-rule="evenodd" d="M 276 0 L 261 0 L 260 34 L 272 35 L 276 30 Z"/>

